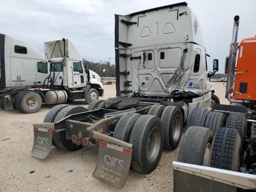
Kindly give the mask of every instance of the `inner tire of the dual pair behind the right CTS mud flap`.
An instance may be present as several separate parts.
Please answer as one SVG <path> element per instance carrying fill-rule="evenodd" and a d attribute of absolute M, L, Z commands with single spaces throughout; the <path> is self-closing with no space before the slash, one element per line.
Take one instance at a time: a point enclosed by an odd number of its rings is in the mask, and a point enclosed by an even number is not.
<path fill-rule="evenodd" d="M 129 142 L 132 128 L 140 116 L 141 114 L 138 113 L 128 113 L 122 116 L 116 124 L 113 137 L 125 142 Z"/>

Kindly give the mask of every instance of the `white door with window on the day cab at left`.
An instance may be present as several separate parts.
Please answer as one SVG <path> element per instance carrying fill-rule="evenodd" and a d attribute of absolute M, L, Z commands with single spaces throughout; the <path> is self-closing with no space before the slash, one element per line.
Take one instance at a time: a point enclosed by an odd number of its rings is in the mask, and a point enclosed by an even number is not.
<path fill-rule="evenodd" d="M 85 70 L 81 62 L 73 62 L 73 80 L 74 86 L 83 87 L 86 85 Z"/>

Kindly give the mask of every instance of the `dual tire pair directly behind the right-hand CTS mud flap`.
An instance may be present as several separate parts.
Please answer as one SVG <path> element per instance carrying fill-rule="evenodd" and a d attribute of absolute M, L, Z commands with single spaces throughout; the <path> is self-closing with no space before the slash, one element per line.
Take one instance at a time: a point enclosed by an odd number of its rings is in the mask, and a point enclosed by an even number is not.
<path fill-rule="evenodd" d="M 113 137 L 133 145 L 131 166 L 134 170 L 144 174 L 155 170 L 163 150 L 163 127 L 159 117 L 125 114 L 118 121 Z"/>

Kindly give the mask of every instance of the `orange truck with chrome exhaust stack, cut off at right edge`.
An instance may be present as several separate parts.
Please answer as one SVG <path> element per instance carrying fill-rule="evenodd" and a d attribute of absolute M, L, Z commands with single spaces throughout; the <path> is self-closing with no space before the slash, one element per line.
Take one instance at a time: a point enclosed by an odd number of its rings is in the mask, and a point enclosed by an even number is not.
<path fill-rule="evenodd" d="M 238 44 L 238 26 L 235 16 L 224 69 L 230 105 L 190 113 L 173 162 L 174 192 L 256 191 L 256 37 Z"/>

